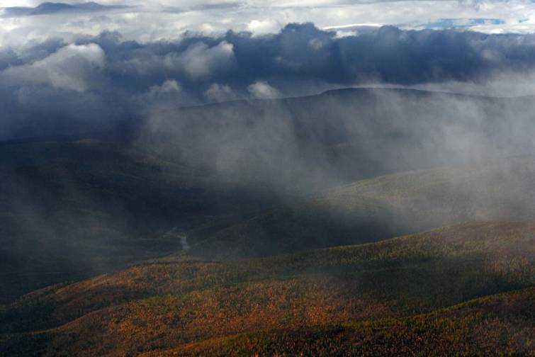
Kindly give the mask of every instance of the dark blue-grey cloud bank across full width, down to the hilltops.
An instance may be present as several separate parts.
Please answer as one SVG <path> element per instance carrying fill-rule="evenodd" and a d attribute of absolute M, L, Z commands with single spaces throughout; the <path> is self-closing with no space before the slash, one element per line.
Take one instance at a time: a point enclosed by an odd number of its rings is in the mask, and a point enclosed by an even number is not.
<path fill-rule="evenodd" d="M 74 43 L 51 38 L 0 50 L 0 137 L 20 136 L 38 121 L 35 113 L 101 123 L 142 117 L 153 108 L 299 96 L 336 86 L 485 84 L 496 74 L 524 76 L 534 65 L 534 35 L 390 26 L 343 38 L 311 23 L 290 24 L 276 35 L 185 33 L 145 43 L 111 32 Z"/>

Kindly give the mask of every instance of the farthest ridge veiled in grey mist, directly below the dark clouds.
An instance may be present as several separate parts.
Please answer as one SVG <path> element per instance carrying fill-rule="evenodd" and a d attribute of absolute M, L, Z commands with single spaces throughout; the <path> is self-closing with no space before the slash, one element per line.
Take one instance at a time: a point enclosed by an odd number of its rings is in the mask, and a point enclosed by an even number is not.
<path fill-rule="evenodd" d="M 291 193 L 534 154 L 531 97 L 340 89 L 151 113 L 139 141 L 167 157 Z"/>

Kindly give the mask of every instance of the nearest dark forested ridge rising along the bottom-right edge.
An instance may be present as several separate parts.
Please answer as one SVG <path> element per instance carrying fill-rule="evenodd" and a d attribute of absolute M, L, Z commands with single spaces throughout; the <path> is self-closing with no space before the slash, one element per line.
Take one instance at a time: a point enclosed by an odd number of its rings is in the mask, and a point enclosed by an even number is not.
<path fill-rule="evenodd" d="M 142 356 L 535 356 L 535 289 L 402 319 L 240 334 Z"/>

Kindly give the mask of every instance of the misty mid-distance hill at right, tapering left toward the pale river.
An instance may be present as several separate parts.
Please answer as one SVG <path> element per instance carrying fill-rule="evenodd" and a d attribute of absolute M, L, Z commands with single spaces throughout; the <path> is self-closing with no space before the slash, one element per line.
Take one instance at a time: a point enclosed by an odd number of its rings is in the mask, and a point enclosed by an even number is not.
<path fill-rule="evenodd" d="M 223 229 L 188 253 L 267 256 L 474 220 L 535 219 L 535 157 L 357 181 Z"/>

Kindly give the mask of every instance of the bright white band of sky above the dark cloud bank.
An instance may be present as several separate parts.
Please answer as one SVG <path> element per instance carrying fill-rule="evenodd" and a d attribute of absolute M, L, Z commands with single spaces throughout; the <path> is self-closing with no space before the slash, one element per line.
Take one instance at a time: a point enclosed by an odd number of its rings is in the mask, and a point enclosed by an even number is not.
<path fill-rule="evenodd" d="M 247 30 L 276 33 L 287 23 L 312 22 L 334 28 L 339 35 L 354 26 L 393 25 L 403 29 L 458 28 L 484 33 L 531 33 L 533 1 L 509 0 L 101 0 L 100 11 L 64 11 L 40 16 L 15 16 L 9 8 L 36 7 L 36 0 L 1 0 L 0 44 L 17 45 L 50 35 L 98 35 L 120 30 L 125 39 L 148 42 L 174 39 L 184 31 L 203 34 Z M 79 5 L 81 1 L 70 2 Z"/>

